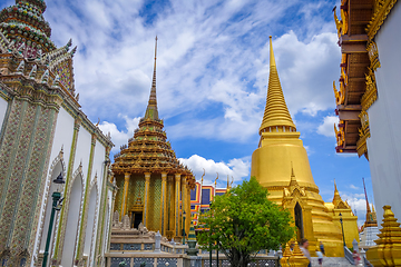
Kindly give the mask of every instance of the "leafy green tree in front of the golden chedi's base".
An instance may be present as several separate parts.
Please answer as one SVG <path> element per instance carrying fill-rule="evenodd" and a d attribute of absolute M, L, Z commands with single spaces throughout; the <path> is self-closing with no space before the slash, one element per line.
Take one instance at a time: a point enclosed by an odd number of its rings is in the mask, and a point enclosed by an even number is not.
<path fill-rule="evenodd" d="M 267 189 L 251 177 L 223 196 L 199 217 L 203 249 L 223 251 L 233 267 L 246 267 L 261 249 L 278 249 L 294 236 L 292 217 L 267 199 Z M 202 228 L 200 228 L 202 229 Z"/>

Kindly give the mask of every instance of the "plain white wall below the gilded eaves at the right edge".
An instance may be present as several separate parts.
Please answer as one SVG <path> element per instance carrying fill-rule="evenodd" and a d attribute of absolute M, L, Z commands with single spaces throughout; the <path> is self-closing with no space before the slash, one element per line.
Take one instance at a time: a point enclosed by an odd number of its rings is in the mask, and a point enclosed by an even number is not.
<path fill-rule="evenodd" d="M 368 139 L 378 222 L 384 205 L 401 221 L 401 3 L 391 10 L 375 36 L 381 68 L 375 71 L 378 100 L 368 109 Z M 381 226 L 380 226 L 381 227 Z"/>

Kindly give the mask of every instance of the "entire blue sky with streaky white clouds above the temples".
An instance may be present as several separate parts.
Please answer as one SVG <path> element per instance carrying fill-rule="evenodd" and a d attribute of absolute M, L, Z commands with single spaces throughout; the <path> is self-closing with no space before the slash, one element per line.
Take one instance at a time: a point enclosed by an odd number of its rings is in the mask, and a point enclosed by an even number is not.
<path fill-rule="evenodd" d="M 7 7 L 14 1 L 7 0 Z M 47 1 L 51 39 L 72 38 L 82 110 L 111 132 L 116 148 L 133 136 L 148 100 L 158 36 L 157 97 L 167 136 L 199 178 L 250 176 L 267 92 L 268 36 L 290 112 L 325 201 L 336 179 L 343 199 L 364 215 L 369 162 L 335 154 L 332 83 L 340 48 L 336 1 L 58 0 Z M 221 180 L 224 186 L 225 178 Z M 362 218 L 361 218 L 362 219 Z"/>

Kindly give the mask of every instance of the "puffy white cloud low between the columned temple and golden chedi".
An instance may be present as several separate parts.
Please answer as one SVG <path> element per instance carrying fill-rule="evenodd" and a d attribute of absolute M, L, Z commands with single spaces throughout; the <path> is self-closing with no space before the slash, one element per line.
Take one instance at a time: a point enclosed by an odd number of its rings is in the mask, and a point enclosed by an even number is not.
<path fill-rule="evenodd" d="M 217 187 L 226 187 L 227 176 L 229 182 L 234 178 L 234 184 L 238 184 L 242 179 L 250 177 L 251 162 L 248 158 L 234 158 L 228 160 L 228 162 L 216 162 L 213 159 L 205 159 L 198 155 L 193 155 L 189 158 L 179 158 L 179 161 L 193 170 L 197 181 L 200 181 L 205 170 L 204 185 L 214 185 L 217 172 Z"/>

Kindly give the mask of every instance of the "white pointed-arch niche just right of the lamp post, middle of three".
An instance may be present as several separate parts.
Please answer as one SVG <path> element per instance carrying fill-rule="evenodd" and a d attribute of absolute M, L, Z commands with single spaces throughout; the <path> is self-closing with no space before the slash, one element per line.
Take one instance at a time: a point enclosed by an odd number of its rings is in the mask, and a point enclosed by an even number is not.
<path fill-rule="evenodd" d="M 74 263 L 78 236 L 78 222 L 80 221 L 82 188 L 82 175 L 78 172 L 72 180 L 71 190 L 68 198 L 69 205 L 66 237 L 62 246 L 61 266 L 72 266 Z"/>

